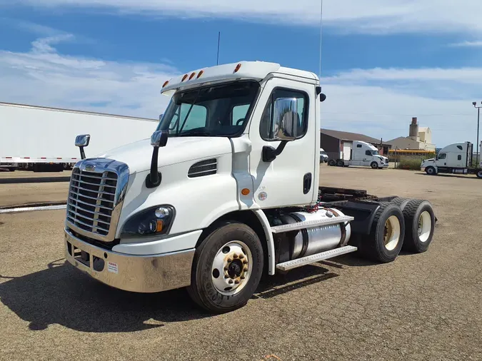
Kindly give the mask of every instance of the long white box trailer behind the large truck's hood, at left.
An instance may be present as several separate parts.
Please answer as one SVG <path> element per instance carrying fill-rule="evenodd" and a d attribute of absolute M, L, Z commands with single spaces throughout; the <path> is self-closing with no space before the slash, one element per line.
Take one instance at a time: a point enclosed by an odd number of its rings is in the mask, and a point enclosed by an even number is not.
<path fill-rule="evenodd" d="M 0 168 L 61 171 L 80 160 L 74 139 L 91 134 L 91 154 L 146 138 L 159 120 L 0 103 Z"/>

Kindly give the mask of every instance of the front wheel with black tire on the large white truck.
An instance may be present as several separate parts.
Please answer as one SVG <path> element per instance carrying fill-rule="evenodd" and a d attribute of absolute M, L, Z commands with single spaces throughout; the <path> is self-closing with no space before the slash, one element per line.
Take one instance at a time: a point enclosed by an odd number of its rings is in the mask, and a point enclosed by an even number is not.
<path fill-rule="evenodd" d="M 248 225 L 221 223 L 196 249 L 187 291 L 194 302 L 209 312 L 237 310 L 246 305 L 258 287 L 263 257 L 261 241 Z"/>

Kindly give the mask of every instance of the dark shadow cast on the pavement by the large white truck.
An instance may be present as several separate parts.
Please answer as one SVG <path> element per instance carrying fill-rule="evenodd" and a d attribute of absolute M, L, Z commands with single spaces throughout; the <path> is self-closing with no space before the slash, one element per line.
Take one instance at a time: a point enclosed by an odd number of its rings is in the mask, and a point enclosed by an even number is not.
<path fill-rule="evenodd" d="M 253 298 L 273 298 L 336 276 L 321 265 L 307 265 L 268 277 Z M 81 332 L 134 332 L 216 316 L 197 307 L 184 289 L 130 293 L 79 273 L 64 259 L 18 278 L 0 275 L 0 281 L 1 302 L 33 331 L 59 324 Z"/>

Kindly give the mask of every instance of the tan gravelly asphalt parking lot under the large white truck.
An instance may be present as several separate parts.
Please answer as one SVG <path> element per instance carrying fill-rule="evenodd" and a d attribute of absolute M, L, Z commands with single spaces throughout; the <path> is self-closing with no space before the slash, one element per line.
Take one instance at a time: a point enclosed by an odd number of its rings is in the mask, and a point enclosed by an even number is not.
<path fill-rule="evenodd" d="M 0 214 L 0 360 L 481 360 L 482 181 L 323 165 L 321 185 L 430 200 L 431 248 L 308 265 L 212 316 L 184 290 L 126 293 L 74 270 L 64 210 Z M 0 198 L 22 187 L 0 184 Z"/>

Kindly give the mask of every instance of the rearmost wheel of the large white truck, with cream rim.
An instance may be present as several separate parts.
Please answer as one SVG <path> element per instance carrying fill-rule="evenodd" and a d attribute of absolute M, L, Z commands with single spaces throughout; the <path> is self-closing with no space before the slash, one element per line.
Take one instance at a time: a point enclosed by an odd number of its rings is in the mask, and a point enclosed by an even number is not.
<path fill-rule="evenodd" d="M 405 241 L 403 250 L 423 253 L 428 249 L 435 228 L 435 215 L 428 200 L 410 200 L 403 209 Z"/>

